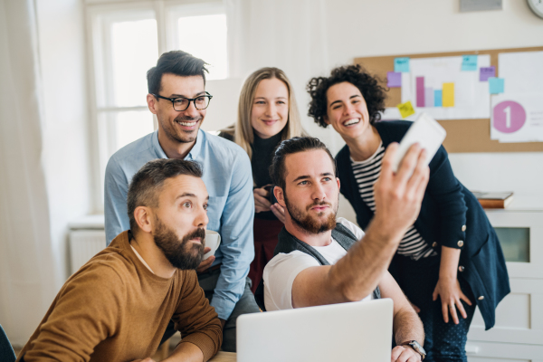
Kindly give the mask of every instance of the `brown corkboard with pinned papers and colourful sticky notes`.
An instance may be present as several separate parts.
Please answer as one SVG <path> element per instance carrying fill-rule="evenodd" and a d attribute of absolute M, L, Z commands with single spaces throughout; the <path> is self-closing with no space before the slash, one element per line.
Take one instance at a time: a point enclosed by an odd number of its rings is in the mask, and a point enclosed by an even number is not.
<path fill-rule="evenodd" d="M 356 58 L 355 63 L 360 64 L 370 73 L 376 75 L 386 87 L 386 72 L 394 71 L 394 59 L 399 57 L 433 58 L 446 56 L 459 56 L 469 54 L 490 54 L 491 65 L 496 67 L 499 76 L 498 54 L 500 52 L 539 52 L 543 46 L 516 49 L 494 49 L 471 52 L 434 52 L 427 54 L 402 54 L 391 56 L 377 56 Z M 506 85 L 507 87 L 507 85 Z M 391 88 L 387 92 L 386 107 L 395 107 L 402 101 L 400 88 Z M 543 142 L 526 143 L 500 143 L 491 139 L 491 119 L 446 119 L 438 120 L 447 130 L 447 138 L 443 146 L 448 152 L 542 152 Z"/>

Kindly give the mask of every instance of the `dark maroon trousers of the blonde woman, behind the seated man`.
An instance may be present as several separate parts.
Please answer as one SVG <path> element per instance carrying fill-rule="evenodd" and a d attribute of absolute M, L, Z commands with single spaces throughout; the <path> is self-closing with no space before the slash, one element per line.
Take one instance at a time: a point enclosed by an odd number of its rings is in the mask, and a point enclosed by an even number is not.
<path fill-rule="evenodd" d="M 278 235 L 283 224 L 279 220 L 262 220 L 254 218 L 254 259 L 249 269 L 249 278 L 252 281 L 251 291 L 254 293 L 260 281 L 264 267 L 273 258 L 273 251 L 279 241 Z"/>

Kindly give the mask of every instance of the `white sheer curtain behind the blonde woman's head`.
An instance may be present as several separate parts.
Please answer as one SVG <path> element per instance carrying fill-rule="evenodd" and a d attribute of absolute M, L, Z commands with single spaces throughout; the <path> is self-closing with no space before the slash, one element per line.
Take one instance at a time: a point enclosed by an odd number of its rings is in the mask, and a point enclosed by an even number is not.
<path fill-rule="evenodd" d="M 307 117 L 311 77 L 329 73 L 325 0 L 224 0 L 233 77 L 278 67 L 292 82 L 304 128 L 337 151 L 338 138 Z"/>

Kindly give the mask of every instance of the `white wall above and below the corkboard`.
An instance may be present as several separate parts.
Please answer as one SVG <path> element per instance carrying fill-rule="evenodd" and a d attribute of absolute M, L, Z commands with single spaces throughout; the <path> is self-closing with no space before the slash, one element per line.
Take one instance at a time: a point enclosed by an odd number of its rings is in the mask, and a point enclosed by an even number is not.
<path fill-rule="evenodd" d="M 330 67 L 364 56 L 543 45 L 543 19 L 526 1 L 503 0 L 499 11 L 460 13 L 459 8 L 459 0 L 327 0 Z M 341 147 L 343 141 L 335 138 L 330 147 Z M 450 159 L 468 188 L 543 192 L 543 152 L 464 153 Z M 346 204 L 342 201 L 340 214 L 352 216 Z"/>

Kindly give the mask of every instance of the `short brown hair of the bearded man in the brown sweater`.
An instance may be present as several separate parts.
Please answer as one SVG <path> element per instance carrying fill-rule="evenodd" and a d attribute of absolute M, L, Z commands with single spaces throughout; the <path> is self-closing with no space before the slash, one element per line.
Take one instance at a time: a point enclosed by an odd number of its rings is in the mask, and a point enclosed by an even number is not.
<path fill-rule="evenodd" d="M 138 230 L 138 224 L 134 218 L 136 207 L 158 207 L 158 191 L 168 178 L 179 175 L 202 177 L 202 167 L 195 161 L 159 158 L 149 161 L 132 177 L 127 195 L 130 230 L 132 232 Z"/>

